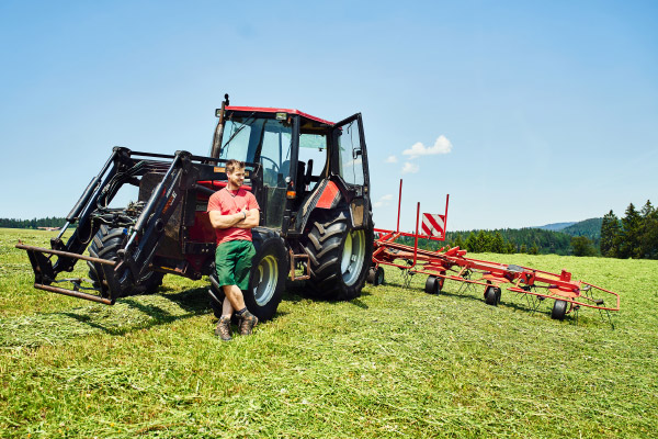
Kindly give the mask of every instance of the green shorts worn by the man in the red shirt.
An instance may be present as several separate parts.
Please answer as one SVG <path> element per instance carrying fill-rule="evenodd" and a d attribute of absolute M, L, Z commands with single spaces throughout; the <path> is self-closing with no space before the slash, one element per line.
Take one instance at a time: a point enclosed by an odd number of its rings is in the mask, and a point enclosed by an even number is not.
<path fill-rule="evenodd" d="M 219 286 L 238 285 L 240 290 L 249 288 L 251 259 L 256 255 L 250 240 L 229 240 L 217 246 L 215 269 Z"/>

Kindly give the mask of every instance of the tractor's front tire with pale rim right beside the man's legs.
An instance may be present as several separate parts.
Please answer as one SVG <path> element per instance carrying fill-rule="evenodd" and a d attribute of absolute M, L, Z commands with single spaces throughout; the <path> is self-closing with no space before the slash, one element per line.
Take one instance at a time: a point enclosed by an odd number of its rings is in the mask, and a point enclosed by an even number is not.
<path fill-rule="evenodd" d="M 274 316 L 283 297 L 288 271 L 288 255 L 283 240 L 273 234 L 253 234 L 256 256 L 252 259 L 249 289 L 243 291 L 245 304 L 259 320 Z"/>

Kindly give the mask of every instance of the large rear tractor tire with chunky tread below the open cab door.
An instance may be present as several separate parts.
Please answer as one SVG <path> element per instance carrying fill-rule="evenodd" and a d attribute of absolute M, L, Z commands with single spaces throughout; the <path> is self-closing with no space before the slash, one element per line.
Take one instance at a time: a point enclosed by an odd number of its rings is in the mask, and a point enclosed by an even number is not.
<path fill-rule="evenodd" d="M 373 230 L 353 229 L 349 211 L 318 211 L 309 222 L 309 293 L 324 300 L 349 301 L 361 294 L 373 256 Z"/>

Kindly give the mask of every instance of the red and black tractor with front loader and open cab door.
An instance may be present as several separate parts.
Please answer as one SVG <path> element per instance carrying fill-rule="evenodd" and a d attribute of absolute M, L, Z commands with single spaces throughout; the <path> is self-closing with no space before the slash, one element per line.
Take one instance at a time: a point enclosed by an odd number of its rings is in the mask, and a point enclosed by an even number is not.
<path fill-rule="evenodd" d="M 249 309 L 272 318 L 288 279 L 318 299 L 359 296 L 374 228 L 361 114 L 332 123 L 297 110 L 232 106 L 226 94 L 215 115 L 209 156 L 114 147 L 50 248 L 16 245 L 27 251 L 34 286 L 112 305 L 156 292 L 166 274 L 207 275 L 218 315 L 224 295 L 206 209 L 227 184 L 224 165 L 237 159 L 246 164 L 243 188 L 261 207 L 243 292 Z M 114 205 L 123 188 L 135 199 Z M 65 241 L 69 227 L 75 230 Z M 57 279 L 79 260 L 89 266 L 89 279 Z"/>

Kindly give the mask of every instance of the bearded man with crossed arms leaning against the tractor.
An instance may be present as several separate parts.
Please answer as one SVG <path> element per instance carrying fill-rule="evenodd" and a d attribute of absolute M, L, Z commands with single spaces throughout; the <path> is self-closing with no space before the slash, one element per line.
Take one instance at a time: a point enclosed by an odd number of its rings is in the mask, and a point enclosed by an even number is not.
<path fill-rule="evenodd" d="M 240 319 L 240 335 L 250 335 L 258 324 L 258 317 L 245 305 L 242 290 L 249 288 L 251 259 L 256 255 L 251 244 L 251 229 L 260 222 L 260 207 L 256 196 L 241 189 L 245 162 L 228 160 L 226 176 L 226 188 L 215 192 L 208 200 L 208 216 L 217 238 L 217 280 L 226 296 L 215 334 L 224 341 L 231 340 L 230 317 L 234 312 Z"/>

